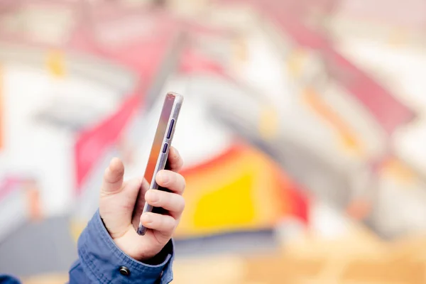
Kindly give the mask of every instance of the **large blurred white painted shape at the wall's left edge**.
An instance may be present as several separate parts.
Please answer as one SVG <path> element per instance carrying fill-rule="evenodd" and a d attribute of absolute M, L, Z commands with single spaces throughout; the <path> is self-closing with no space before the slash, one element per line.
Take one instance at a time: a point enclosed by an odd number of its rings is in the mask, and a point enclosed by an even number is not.
<path fill-rule="evenodd" d="M 43 70 L 8 64 L 4 67 L 3 92 L 6 143 L 3 167 L 10 173 L 38 179 L 44 214 L 67 212 L 75 188 L 75 133 L 35 121 L 35 115 L 53 99 L 63 99 L 62 111 L 70 111 L 67 102 L 88 104 L 98 110 L 96 114 L 102 114 L 97 119 L 102 119 L 117 107 L 114 89 L 79 78 L 61 81 Z M 78 109 L 73 111 L 75 116 L 83 115 Z"/>

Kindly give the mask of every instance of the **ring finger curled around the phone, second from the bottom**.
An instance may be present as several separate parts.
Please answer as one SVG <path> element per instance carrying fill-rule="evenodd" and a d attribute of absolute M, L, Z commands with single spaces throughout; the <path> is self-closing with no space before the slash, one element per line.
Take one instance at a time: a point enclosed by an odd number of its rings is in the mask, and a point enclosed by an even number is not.
<path fill-rule="evenodd" d="M 148 190 L 145 200 L 153 207 L 161 207 L 168 210 L 170 215 L 175 219 L 179 219 L 185 208 L 185 199 L 182 195 L 163 190 Z"/>

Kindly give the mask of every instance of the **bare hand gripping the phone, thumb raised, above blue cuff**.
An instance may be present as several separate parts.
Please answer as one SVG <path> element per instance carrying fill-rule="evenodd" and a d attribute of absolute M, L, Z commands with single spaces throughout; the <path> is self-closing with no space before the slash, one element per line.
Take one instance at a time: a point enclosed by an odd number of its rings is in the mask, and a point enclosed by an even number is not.
<path fill-rule="evenodd" d="M 104 173 L 99 213 L 119 249 L 138 261 L 153 258 L 170 241 L 185 207 L 182 197 L 185 179 L 176 173 L 182 168 L 182 158 L 173 147 L 168 155 L 168 168 L 170 170 L 158 172 L 155 180 L 170 192 L 148 190 L 146 180 L 123 182 L 124 165 L 119 158 L 112 159 Z M 147 212 L 141 216 L 145 202 L 162 207 L 166 214 Z M 139 236 L 134 229 L 139 221 L 148 228 L 144 236 Z"/>

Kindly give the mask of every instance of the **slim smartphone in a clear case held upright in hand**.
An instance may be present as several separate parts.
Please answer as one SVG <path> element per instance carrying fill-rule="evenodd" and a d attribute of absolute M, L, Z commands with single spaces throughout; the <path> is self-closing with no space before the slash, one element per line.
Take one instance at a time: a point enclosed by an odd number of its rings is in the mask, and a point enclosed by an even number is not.
<path fill-rule="evenodd" d="M 183 97 L 180 94 L 168 92 L 168 94 L 165 95 L 160 121 L 158 121 L 153 146 L 148 158 L 148 165 L 146 166 L 145 175 L 143 176 L 150 185 L 150 190 L 161 190 L 157 182 L 155 182 L 155 175 L 157 175 L 159 170 L 164 170 L 165 164 L 167 163 L 168 152 L 175 133 L 182 102 Z M 153 207 L 145 202 L 142 214 L 152 211 Z M 147 228 L 139 221 L 137 228 L 138 234 L 143 236 L 146 234 L 146 230 Z"/>

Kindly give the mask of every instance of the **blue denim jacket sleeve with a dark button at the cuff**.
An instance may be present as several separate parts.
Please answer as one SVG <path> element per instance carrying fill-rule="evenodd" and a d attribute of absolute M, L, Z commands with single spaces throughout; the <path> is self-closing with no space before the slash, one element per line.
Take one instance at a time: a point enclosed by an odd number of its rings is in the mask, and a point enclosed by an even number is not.
<path fill-rule="evenodd" d="M 79 259 L 70 268 L 70 284 L 167 284 L 173 280 L 173 251 L 170 241 L 160 252 L 164 261 L 158 265 L 130 258 L 115 245 L 97 212 L 78 240 Z M 19 284 L 19 281 L 0 275 L 0 284 Z"/>

